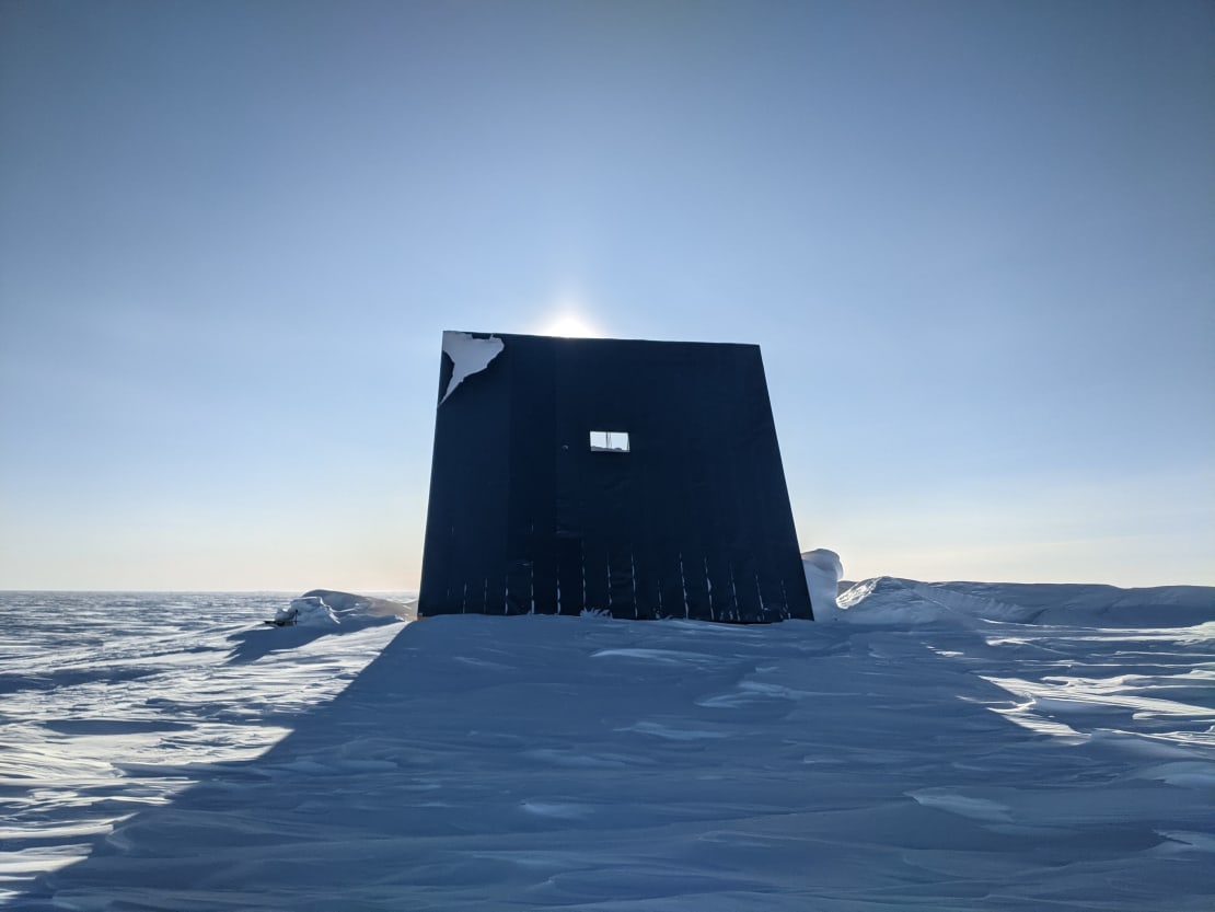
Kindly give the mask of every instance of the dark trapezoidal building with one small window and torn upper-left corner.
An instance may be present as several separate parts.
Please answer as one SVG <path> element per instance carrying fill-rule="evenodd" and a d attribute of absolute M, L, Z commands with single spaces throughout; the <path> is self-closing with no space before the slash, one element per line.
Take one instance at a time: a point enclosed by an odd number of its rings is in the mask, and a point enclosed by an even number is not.
<path fill-rule="evenodd" d="M 758 345 L 443 333 L 418 614 L 812 618 Z"/>

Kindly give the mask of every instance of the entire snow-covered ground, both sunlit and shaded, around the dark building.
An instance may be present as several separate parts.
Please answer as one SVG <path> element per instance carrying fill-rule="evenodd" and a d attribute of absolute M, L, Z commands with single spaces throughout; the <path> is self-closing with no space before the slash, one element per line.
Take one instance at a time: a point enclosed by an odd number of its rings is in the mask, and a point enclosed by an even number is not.
<path fill-rule="evenodd" d="M 0 596 L 9 907 L 1215 908 L 1213 589 L 259 623 L 289 602 Z"/>

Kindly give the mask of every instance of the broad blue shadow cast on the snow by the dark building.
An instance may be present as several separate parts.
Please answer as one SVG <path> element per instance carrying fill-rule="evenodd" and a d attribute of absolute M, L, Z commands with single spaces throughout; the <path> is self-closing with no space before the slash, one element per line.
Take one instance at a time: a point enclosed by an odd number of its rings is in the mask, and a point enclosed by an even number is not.
<path fill-rule="evenodd" d="M 976 669 L 999 648 L 963 629 L 431 618 L 266 754 L 120 822 L 12 908 L 1209 895 L 1206 867 L 1158 833 L 1202 831 L 1209 803 L 1129 775 L 1108 743 L 1059 745 L 990 711 L 1008 693 Z"/>

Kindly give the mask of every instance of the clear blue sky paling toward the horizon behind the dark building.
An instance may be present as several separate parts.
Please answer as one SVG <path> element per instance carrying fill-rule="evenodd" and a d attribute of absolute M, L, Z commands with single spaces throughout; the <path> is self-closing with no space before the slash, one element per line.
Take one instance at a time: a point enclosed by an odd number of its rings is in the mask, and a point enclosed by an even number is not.
<path fill-rule="evenodd" d="M 753 342 L 852 579 L 1215 584 L 1215 5 L 0 0 L 0 587 L 417 584 L 445 328 Z"/>

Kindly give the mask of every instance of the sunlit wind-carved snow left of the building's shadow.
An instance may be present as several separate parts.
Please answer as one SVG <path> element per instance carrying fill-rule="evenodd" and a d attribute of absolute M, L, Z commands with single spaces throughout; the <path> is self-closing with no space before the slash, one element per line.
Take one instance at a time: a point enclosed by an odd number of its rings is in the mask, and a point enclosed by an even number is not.
<path fill-rule="evenodd" d="M 0 593 L 0 905 L 262 754 L 403 629 L 401 602 L 326 592 L 300 607 L 338 624 L 282 627 L 286 596 Z"/>

